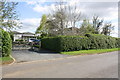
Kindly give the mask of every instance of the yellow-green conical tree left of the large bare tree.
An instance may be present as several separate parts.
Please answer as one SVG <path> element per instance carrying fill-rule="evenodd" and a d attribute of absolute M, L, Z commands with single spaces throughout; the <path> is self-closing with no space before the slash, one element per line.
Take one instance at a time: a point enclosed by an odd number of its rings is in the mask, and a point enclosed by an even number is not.
<path fill-rule="evenodd" d="M 40 26 L 36 30 L 36 34 L 45 34 L 47 33 L 47 27 L 46 27 L 46 21 L 47 21 L 47 16 L 45 14 L 42 15 L 42 19 L 40 21 Z"/>

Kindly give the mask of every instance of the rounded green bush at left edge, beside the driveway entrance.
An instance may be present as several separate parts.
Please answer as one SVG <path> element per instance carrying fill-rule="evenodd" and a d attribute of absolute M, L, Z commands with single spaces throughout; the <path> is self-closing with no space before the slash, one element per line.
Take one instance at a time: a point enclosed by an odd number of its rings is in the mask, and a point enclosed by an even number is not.
<path fill-rule="evenodd" d="M 0 29 L 2 31 L 2 57 L 7 57 L 11 53 L 12 40 L 8 32 Z"/>

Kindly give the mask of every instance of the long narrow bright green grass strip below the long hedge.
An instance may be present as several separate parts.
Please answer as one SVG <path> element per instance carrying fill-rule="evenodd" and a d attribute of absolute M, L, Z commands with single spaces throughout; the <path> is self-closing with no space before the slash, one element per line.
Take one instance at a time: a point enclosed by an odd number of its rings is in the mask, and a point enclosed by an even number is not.
<path fill-rule="evenodd" d="M 66 55 L 98 54 L 98 53 L 106 53 L 106 52 L 112 52 L 118 50 L 120 50 L 120 48 L 70 51 L 70 52 L 61 52 L 61 54 L 66 54 Z"/>

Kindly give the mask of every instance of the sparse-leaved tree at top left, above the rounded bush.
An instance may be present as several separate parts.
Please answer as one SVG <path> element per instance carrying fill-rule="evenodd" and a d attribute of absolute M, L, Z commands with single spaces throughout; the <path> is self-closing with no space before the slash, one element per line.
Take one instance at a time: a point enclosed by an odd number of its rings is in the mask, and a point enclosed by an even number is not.
<path fill-rule="evenodd" d="M 15 10 L 17 2 L 0 1 L 0 27 L 10 31 L 13 28 L 20 27 L 17 11 Z"/>

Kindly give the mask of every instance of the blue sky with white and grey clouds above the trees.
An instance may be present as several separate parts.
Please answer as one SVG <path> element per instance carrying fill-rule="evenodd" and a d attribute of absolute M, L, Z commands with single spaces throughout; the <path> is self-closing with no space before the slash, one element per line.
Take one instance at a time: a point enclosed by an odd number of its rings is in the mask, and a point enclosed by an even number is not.
<path fill-rule="evenodd" d="M 80 9 L 82 16 L 92 19 L 93 15 L 99 16 L 104 19 L 104 22 L 111 22 L 115 26 L 111 36 L 118 36 L 118 2 L 80 2 L 79 0 L 69 0 L 67 4 Z M 54 9 L 55 2 L 42 2 L 26 1 L 19 2 L 16 7 L 22 27 L 16 29 L 19 32 L 32 32 L 40 25 L 41 16 L 49 14 Z"/>

